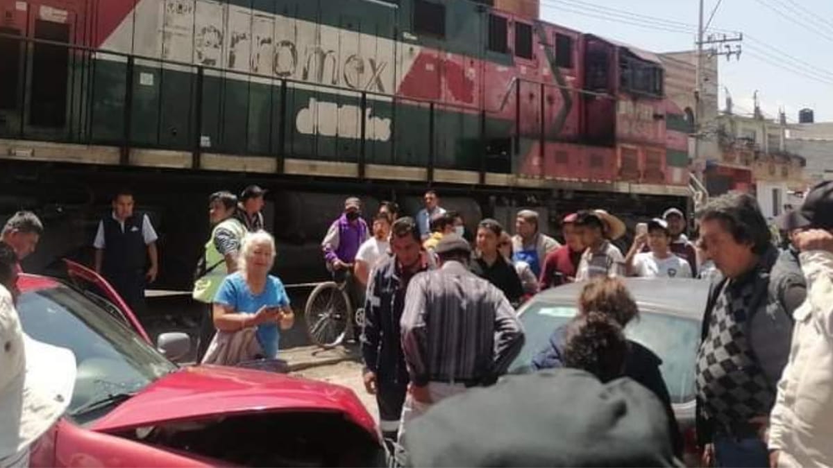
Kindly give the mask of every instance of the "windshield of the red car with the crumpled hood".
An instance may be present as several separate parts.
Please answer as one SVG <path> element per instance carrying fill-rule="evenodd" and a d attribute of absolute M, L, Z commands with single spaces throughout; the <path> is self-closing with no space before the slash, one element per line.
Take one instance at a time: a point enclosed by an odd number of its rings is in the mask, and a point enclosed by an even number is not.
<path fill-rule="evenodd" d="M 67 286 L 28 291 L 17 303 L 32 338 L 72 350 L 77 377 L 67 413 L 93 421 L 177 366 L 102 306 Z"/>

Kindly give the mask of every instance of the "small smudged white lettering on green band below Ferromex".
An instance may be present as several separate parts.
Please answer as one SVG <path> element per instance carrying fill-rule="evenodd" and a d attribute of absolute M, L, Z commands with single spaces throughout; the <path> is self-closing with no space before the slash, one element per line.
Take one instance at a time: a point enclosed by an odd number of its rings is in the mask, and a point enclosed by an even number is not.
<path fill-rule="evenodd" d="M 339 106 L 336 102 L 320 102 L 311 97 L 307 107 L 295 119 L 297 131 L 304 135 L 322 137 L 361 138 L 362 108 Z M 391 139 L 391 119 L 372 116 L 372 107 L 364 115 L 367 140 L 388 142 Z"/>

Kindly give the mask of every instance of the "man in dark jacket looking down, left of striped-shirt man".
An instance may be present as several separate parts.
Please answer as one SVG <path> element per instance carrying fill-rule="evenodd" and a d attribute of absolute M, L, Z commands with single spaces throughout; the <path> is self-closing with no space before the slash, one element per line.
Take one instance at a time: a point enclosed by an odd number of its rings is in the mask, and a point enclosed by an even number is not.
<path fill-rule="evenodd" d="M 393 223 L 391 250 L 393 256 L 377 264 L 367 285 L 362 358 L 365 388 L 376 395 L 382 436 L 396 441 L 410 381 L 402 355 L 399 320 L 408 282 L 427 269 L 419 227 L 413 218 L 402 217 Z"/>

